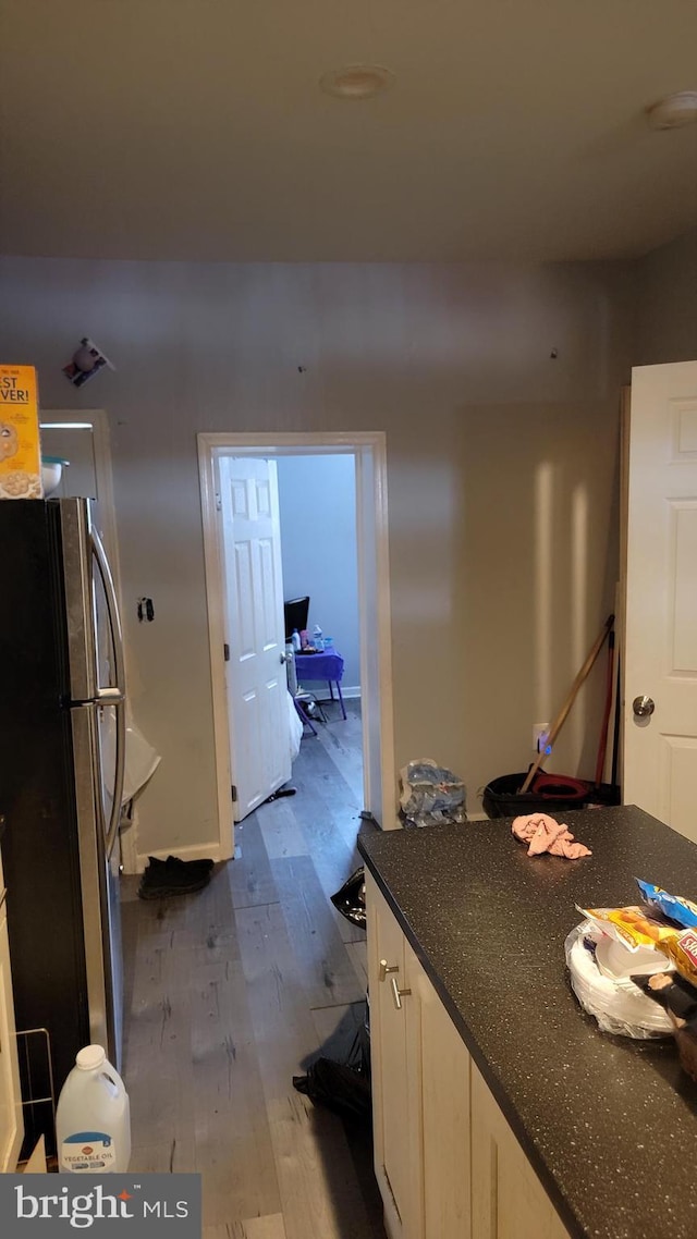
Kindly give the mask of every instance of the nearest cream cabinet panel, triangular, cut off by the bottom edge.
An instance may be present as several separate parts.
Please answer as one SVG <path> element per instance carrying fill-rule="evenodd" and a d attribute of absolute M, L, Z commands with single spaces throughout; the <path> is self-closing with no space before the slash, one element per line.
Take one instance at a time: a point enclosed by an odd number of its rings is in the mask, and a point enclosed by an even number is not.
<path fill-rule="evenodd" d="M 471 1141 L 471 1239 L 569 1239 L 474 1063 Z"/>

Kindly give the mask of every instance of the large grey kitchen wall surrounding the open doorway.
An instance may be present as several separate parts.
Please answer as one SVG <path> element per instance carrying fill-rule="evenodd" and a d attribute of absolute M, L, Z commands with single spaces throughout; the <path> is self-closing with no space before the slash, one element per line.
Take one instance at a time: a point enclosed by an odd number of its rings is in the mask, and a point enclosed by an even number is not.
<path fill-rule="evenodd" d="M 611 603 L 631 276 L 0 263 L 2 359 L 38 366 L 46 408 L 112 420 L 130 691 L 162 755 L 143 852 L 217 834 L 198 430 L 387 432 L 397 763 L 450 766 L 470 810 L 489 778 L 525 768 L 532 722 L 562 703 Z M 117 372 L 76 393 L 61 366 L 86 333 Z M 136 622 L 141 595 L 155 623 Z M 559 747 L 567 773 L 593 772 L 602 680 Z"/>

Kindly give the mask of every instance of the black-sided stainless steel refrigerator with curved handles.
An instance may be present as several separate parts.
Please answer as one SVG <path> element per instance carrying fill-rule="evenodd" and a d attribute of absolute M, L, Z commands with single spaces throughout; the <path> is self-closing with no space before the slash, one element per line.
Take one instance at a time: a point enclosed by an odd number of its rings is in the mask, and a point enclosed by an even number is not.
<path fill-rule="evenodd" d="M 0 814 L 25 1101 L 50 1089 L 30 1030 L 47 1030 L 56 1093 L 89 1042 L 120 1069 L 124 709 L 91 501 L 0 502 Z M 51 1144 L 46 1114 L 25 1119 Z"/>

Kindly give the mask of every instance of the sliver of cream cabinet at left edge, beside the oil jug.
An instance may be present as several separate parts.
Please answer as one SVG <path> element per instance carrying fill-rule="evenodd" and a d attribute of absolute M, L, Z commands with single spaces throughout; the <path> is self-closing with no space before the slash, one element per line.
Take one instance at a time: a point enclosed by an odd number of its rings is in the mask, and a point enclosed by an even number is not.
<path fill-rule="evenodd" d="M 24 1137 L 5 893 L 0 860 L 0 1172 L 4 1175 L 16 1170 Z"/>

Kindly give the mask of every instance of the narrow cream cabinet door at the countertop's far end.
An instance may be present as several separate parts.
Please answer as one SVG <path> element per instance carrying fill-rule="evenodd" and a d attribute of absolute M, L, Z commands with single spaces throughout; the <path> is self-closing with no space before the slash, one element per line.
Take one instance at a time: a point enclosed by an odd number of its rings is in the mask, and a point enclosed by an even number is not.
<path fill-rule="evenodd" d="M 419 1064 L 404 935 L 366 873 L 375 1171 L 391 1239 L 420 1239 Z M 398 1005 L 399 1004 L 399 1005 Z"/>

